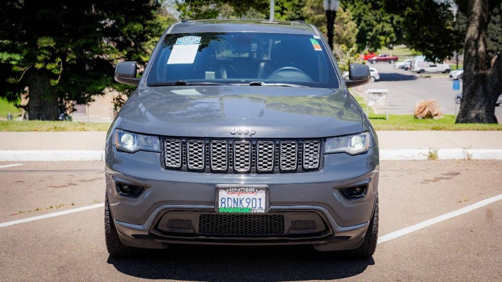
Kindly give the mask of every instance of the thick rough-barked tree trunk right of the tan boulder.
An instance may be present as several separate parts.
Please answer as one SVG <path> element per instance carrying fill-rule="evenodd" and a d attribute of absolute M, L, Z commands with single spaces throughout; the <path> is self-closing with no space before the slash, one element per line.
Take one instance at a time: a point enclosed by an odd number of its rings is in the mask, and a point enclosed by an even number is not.
<path fill-rule="evenodd" d="M 493 67 L 486 53 L 489 0 L 469 1 L 464 47 L 462 103 L 456 123 L 496 123 L 495 102 L 502 88 L 502 56 Z"/>

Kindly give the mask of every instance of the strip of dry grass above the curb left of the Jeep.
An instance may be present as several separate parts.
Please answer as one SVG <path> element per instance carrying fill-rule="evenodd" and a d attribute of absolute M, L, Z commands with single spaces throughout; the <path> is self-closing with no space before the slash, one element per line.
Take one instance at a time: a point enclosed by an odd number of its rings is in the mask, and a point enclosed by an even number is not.
<path fill-rule="evenodd" d="M 0 131 L 107 131 L 105 122 L 0 120 Z"/>

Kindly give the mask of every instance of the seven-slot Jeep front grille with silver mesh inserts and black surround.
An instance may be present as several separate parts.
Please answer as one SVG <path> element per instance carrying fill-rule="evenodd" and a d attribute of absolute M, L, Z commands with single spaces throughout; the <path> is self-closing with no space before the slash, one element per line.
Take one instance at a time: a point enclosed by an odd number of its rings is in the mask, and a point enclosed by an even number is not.
<path fill-rule="evenodd" d="M 321 140 L 164 139 L 166 169 L 213 173 L 318 170 Z"/>

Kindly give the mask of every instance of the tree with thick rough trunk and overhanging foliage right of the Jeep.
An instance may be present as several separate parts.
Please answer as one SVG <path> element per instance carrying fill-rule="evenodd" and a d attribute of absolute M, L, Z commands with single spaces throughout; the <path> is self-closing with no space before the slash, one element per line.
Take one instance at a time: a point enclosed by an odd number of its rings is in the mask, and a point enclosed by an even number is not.
<path fill-rule="evenodd" d="M 455 3 L 468 18 L 465 32 L 455 30 L 451 3 L 447 0 L 388 0 L 387 8 L 403 15 L 407 44 L 429 60 L 451 58 L 453 51 L 463 44 L 463 96 L 456 122 L 496 123 L 495 102 L 502 92 L 502 46 L 500 32 L 497 33 L 500 29 L 496 27 L 500 22 L 492 18 L 500 17 L 501 1 L 455 0 Z"/>

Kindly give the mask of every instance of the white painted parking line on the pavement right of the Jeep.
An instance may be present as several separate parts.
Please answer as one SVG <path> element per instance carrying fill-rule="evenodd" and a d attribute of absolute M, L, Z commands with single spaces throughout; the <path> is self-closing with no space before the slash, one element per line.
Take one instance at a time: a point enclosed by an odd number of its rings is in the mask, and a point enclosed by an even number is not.
<path fill-rule="evenodd" d="M 449 212 L 449 213 L 446 213 L 446 214 L 443 214 L 443 215 L 440 215 L 440 216 L 428 219 L 426 221 L 422 221 L 422 222 L 417 223 L 415 225 L 412 225 L 412 226 L 409 226 L 409 227 L 406 227 L 406 228 L 403 228 L 403 229 L 391 232 L 389 234 L 380 236 L 378 238 L 378 244 L 386 242 L 386 241 L 390 241 L 392 239 L 396 239 L 396 238 L 404 236 L 404 235 L 406 235 L 408 233 L 420 230 L 422 228 L 425 228 L 425 227 L 431 226 L 433 224 L 439 223 L 441 221 L 445 221 L 447 219 L 450 219 L 450 218 L 462 215 L 464 213 L 468 213 L 470 211 L 473 211 L 475 209 L 484 207 L 484 206 L 486 206 L 488 204 L 491 204 L 493 202 L 500 201 L 500 200 L 502 200 L 502 194 L 494 196 L 494 197 L 491 197 L 491 198 L 488 198 L 488 199 L 484 199 L 482 201 L 479 201 L 479 202 L 477 202 L 475 204 L 466 206 L 466 207 L 461 208 L 459 210 L 452 211 L 452 212 Z"/>

